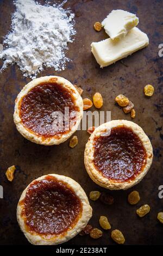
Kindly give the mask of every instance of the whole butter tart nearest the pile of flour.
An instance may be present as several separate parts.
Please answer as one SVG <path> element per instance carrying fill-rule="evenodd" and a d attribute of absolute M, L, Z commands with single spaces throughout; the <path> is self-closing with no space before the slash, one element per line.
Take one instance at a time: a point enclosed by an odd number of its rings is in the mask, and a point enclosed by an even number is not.
<path fill-rule="evenodd" d="M 24 86 L 15 101 L 17 130 L 37 144 L 65 142 L 77 130 L 82 117 L 82 97 L 59 76 L 36 78 Z"/>

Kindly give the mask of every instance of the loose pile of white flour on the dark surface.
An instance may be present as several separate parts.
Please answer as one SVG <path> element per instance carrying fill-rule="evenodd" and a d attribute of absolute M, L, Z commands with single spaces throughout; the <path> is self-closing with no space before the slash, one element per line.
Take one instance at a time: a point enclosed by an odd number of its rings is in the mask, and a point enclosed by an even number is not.
<path fill-rule="evenodd" d="M 74 14 L 62 5 L 41 5 L 34 0 L 16 0 L 11 32 L 0 53 L 4 59 L 2 70 L 16 63 L 24 76 L 35 78 L 43 66 L 65 69 L 67 43 L 72 42 Z"/>

